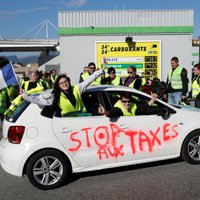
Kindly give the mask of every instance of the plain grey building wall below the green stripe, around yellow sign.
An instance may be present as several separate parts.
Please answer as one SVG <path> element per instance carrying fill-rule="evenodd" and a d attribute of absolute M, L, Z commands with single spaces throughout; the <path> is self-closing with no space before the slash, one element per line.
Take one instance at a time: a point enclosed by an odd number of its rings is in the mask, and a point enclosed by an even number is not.
<path fill-rule="evenodd" d="M 130 35 L 133 41 L 161 41 L 161 80 L 166 81 L 170 59 L 177 56 L 180 65 L 188 70 L 191 76 L 192 45 L 190 34 L 168 35 Z M 95 43 L 98 41 L 125 42 L 126 36 L 63 36 L 60 37 L 61 72 L 71 77 L 72 83 L 79 81 L 83 67 L 89 62 L 96 62 Z"/>

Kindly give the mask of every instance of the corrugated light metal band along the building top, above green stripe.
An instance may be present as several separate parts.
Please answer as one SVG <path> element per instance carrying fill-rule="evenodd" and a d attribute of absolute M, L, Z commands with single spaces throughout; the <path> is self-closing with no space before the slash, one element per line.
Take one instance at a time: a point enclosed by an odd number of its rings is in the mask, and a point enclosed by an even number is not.
<path fill-rule="evenodd" d="M 192 26 L 193 10 L 61 11 L 59 28 Z"/>

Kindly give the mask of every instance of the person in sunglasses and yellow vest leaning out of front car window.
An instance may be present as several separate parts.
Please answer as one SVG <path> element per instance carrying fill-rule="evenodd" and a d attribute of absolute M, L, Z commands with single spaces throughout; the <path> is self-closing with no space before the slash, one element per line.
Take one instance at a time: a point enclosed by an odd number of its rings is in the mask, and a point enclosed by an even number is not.
<path fill-rule="evenodd" d="M 148 115 L 158 113 L 158 107 L 152 106 L 158 95 L 153 93 L 152 99 L 149 102 L 143 102 L 136 104 L 132 102 L 131 94 L 124 92 L 120 95 L 114 107 L 110 111 L 106 111 L 105 108 L 100 105 L 99 114 L 106 115 L 109 118 L 117 118 L 120 116 L 136 116 L 136 115 Z"/>

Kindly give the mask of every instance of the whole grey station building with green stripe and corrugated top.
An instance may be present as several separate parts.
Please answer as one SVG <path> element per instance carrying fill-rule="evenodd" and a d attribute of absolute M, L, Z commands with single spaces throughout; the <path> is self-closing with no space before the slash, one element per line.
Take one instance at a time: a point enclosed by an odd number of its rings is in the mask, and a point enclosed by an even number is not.
<path fill-rule="evenodd" d="M 170 59 L 177 56 L 191 76 L 194 11 L 112 10 L 62 11 L 58 13 L 61 72 L 77 83 L 89 62 L 96 62 L 96 42 L 161 41 L 161 80 L 165 81 Z"/>

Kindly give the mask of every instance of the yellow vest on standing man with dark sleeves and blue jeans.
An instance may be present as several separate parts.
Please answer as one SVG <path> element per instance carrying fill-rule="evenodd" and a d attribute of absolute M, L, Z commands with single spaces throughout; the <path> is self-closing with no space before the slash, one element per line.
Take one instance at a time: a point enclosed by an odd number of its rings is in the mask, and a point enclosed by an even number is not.
<path fill-rule="evenodd" d="M 168 80 L 171 82 L 171 87 L 173 89 L 182 89 L 183 84 L 181 80 L 181 72 L 183 68 L 178 66 L 176 69 L 174 69 L 172 74 L 172 68 L 168 72 Z"/>

